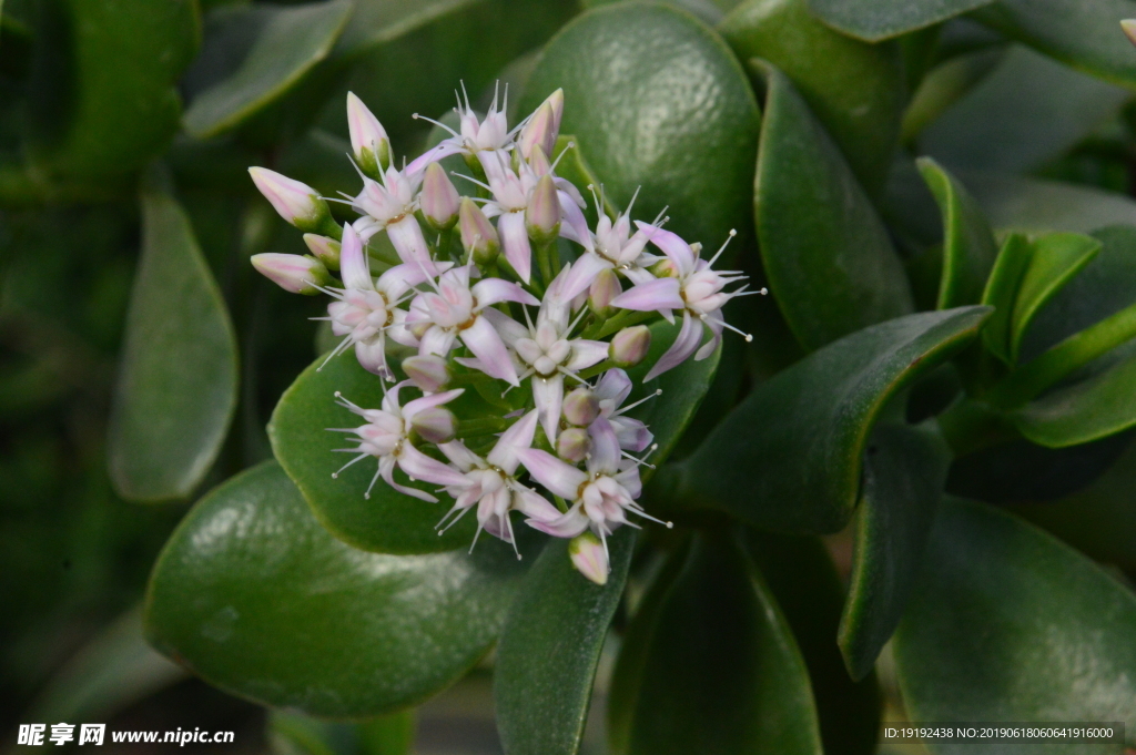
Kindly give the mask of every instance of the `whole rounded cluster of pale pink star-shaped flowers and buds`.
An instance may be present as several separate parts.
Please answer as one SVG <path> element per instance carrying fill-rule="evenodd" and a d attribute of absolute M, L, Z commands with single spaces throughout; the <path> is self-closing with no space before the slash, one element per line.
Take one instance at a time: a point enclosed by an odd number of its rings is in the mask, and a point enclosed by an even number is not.
<path fill-rule="evenodd" d="M 729 327 L 722 305 L 746 293 L 726 287 L 744 276 L 715 270 L 721 250 L 702 259 L 701 245 L 666 230 L 666 219 L 633 223 L 630 207 L 612 219 L 595 199 L 590 226 L 578 187 L 557 175 L 563 152 L 551 159 L 561 91 L 511 129 L 504 110 L 494 98 L 479 117 L 459 99 L 460 129 L 399 169 L 383 126 L 349 94 L 362 190 L 326 200 L 251 168 L 311 251 L 258 254 L 252 263 L 287 291 L 331 296 L 325 319 L 342 341 L 328 359 L 353 347 L 383 381 L 377 409 L 336 394 L 364 421 L 345 430 L 357 442 L 343 450 L 356 454 L 348 465 L 378 461 L 366 496 L 382 477 L 437 501 L 398 483 L 401 470 L 453 500 L 440 531 L 476 509 L 477 536 L 485 530 L 513 547 L 517 511 L 543 532 L 573 538 L 577 569 L 603 584 L 607 537 L 635 527 L 632 515 L 658 521 L 636 503 L 645 458 L 633 454 L 654 446 L 626 413 L 633 385 L 624 368 L 646 358 L 648 321 L 659 317 L 682 326 L 644 380 L 709 356 Z M 468 166 L 469 175 L 452 174 L 468 195 L 442 167 L 454 156 Z M 327 201 L 349 204 L 358 219 L 339 227 Z M 385 260 L 374 249 L 384 233 L 393 248 Z M 496 416 L 454 416 L 446 404 L 470 386 L 500 397 Z M 421 395 L 401 403 L 407 391 Z"/>

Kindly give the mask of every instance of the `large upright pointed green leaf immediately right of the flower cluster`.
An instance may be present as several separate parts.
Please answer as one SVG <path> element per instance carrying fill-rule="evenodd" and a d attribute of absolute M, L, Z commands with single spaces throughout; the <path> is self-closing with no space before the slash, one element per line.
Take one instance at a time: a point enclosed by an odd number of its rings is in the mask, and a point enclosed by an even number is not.
<path fill-rule="evenodd" d="M 769 288 L 807 350 L 911 311 L 887 229 L 788 78 L 768 82 L 754 213 Z"/>

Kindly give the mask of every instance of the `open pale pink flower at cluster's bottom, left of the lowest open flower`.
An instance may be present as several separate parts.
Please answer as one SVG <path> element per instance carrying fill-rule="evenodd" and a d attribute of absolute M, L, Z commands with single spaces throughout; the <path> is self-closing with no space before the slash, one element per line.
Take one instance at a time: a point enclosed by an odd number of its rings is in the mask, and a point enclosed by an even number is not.
<path fill-rule="evenodd" d="M 557 507 L 544 497 L 517 481 L 517 468 L 520 464 L 517 452 L 533 444 L 535 429 L 536 412 L 531 411 L 501 435 L 484 459 L 467 448 L 461 441 L 438 446 L 463 476 L 461 484 L 446 486 L 454 504 L 438 522 L 440 532 L 444 532 L 467 511 L 477 506 L 477 535 L 484 529 L 493 537 L 512 543 L 516 548 L 510 511 L 519 511 L 538 521 L 551 521 L 560 515 Z M 474 536 L 474 544 L 477 543 L 477 535 Z"/>

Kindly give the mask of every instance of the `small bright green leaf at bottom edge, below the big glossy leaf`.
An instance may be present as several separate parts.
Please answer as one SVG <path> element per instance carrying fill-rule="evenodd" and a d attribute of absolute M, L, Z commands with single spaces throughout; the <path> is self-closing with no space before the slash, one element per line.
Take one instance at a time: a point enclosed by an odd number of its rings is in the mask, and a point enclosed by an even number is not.
<path fill-rule="evenodd" d="M 414 711 L 361 723 L 320 721 L 290 711 L 268 714 L 275 755 L 408 755 L 414 739 Z"/>

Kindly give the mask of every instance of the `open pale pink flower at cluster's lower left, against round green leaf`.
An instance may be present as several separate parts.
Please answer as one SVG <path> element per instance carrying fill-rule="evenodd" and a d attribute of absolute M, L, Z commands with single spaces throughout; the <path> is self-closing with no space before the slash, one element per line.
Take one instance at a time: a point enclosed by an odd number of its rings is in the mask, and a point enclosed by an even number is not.
<path fill-rule="evenodd" d="M 465 483 L 465 477 L 460 472 L 418 451 L 410 443 L 409 437 L 411 422 L 414 422 L 417 413 L 452 401 L 460 396 L 462 391 L 435 393 L 431 396 L 415 399 L 408 402 L 406 406 L 400 406 L 399 391 L 408 385 L 410 385 L 409 380 L 399 383 L 387 391 L 383 396 L 382 409 L 362 409 L 344 399 L 339 392 L 335 393 L 335 397 L 339 399 L 341 406 L 351 410 L 351 412 L 362 417 L 367 421 L 357 428 L 335 428 L 340 433 L 353 433 L 358 436 L 359 442 L 359 445 L 353 448 L 336 448 L 336 451 L 358 453 L 359 455 L 341 467 L 332 477 L 339 477 L 340 472 L 344 469 L 367 456 L 378 459 L 378 470 L 375 472 L 375 477 L 371 478 L 367 492 L 364 493 L 364 497 L 366 498 L 370 497 L 370 489 L 375 487 L 376 480 L 382 477 L 387 485 L 400 493 L 432 503 L 437 501 L 429 493 L 395 483 L 395 465 L 406 472 L 411 480 L 425 480 L 443 486 L 462 485 Z"/>

